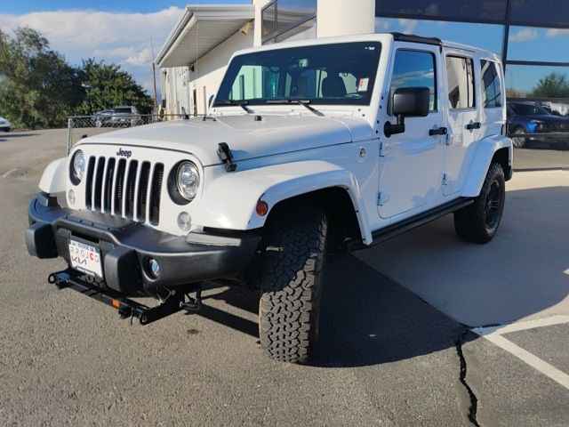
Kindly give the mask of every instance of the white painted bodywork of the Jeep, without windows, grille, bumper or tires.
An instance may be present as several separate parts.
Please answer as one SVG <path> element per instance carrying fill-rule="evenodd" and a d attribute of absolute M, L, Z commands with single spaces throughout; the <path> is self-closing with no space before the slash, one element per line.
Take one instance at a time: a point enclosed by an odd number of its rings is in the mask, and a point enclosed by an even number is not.
<path fill-rule="evenodd" d="M 479 108 L 478 84 L 475 85 L 478 107 L 468 117 L 461 116 L 460 112 L 448 112 L 445 57 L 437 45 L 394 42 L 391 35 L 372 35 L 268 45 L 259 50 L 350 41 L 381 43 L 370 105 L 317 105 L 325 117 L 317 117 L 301 105 L 255 105 L 252 106 L 254 114 L 246 114 L 238 106 L 216 107 L 211 110 L 215 120 L 195 118 L 86 138 L 76 145 L 71 156 L 76 149 L 83 149 L 85 158 L 118 159 L 119 149 L 126 149 L 131 151 L 129 161 L 138 160 L 139 165 L 149 162 L 152 167 L 163 164 L 160 222 L 148 227 L 174 235 L 188 233 L 180 230 L 177 222 L 182 212 L 190 215 L 193 229 L 252 230 L 262 227 L 268 218 L 268 215 L 255 213 L 260 199 L 272 209 L 282 200 L 317 189 L 345 189 L 365 244 L 372 243 L 374 231 L 390 224 L 453 198 L 476 197 L 497 149 L 509 149 L 511 165 L 511 141 L 500 135 L 501 125 L 505 123 L 504 109 Z M 387 111 L 391 68 L 397 48 L 434 55 L 438 107 L 427 117 L 407 118 L 405 133 L 387 138 L 383 133 L 385 122 L 395 121 Z M 490 52 L 458 44 L 445 44 L 444 50 L 470 52 L 477 69 L 477 81 L 480 58 L 499 61 Z M 262 119 L 255 120 L 256 115 Z M 475 119 L 482 123 L 481 129 L 472 133 L 461 131 L 462 126 Z M 449 126 L 451 145 L 446 145 L 444 135 L 429 136 L 429 129 L 443 126 Z M 228 144 L 236 163 L 235 172 L 226 172 L 218 157 L 220 142 Z M 186 205 L 174 203 L 168 193 L 168 175 L 181 160 L 194 162 L 201 175 L 198 194 Z M 105 173 L 107 165 L 102 169 Z M 444 173 L 452 175 L 450 181 L 444 182 Z M 136 185 L 138 191 L 139 184 Z M 76 193 L 75 204 L 70 207 L 84 209 L 85 182 L 73 185 L 68 179 L 68 162 L 59 160 L 48 166 L 40 187 L 53 192 L 66 186 Z M 381 205 L 378 203 L 380 191 L 388 196 Z"/>

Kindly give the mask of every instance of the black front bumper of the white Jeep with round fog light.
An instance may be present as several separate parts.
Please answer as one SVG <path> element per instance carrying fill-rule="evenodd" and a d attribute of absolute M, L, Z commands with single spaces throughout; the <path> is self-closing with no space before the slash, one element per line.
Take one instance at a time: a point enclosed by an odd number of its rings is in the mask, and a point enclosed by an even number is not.
<path fill-rule="evenodd" d="M 156 294 L 207 279 L 243 271 L 260 242 L 255 231 L 209 231 L 172 236 L 139 222 L 92 211 L 73 211 L 40 193 L 28 207 L 26 230 L 29 254 L 65 259 L 69 265 L 70 239 L 100 251 L 104 286 L 124 295 Z M 160 265 L 157 278 L 147 264 Z"/>

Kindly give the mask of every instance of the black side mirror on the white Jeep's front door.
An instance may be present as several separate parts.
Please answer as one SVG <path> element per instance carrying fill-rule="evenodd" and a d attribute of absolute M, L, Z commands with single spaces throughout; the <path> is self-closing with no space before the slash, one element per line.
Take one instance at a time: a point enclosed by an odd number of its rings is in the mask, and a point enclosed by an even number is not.
<path fill-rule="evenodd" d="M 391 98 L 391 112 L 397 117 L 397 124 L 386 122 L 385 136 L 405 132 L 405 117 L 429 116 L 430 91 L 428 87 L 400 87 Z"/>

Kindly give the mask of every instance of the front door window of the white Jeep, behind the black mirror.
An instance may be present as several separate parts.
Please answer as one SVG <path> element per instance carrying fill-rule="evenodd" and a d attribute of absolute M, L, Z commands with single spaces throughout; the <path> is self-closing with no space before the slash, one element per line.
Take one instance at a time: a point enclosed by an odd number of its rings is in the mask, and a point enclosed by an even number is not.
<path fill-rule="evenodd" d="M 437 74 L 435 55 L 431 52 L 398 50 L 395 54 L 389 101 L 401 87 L 428 87 L 431 111 L 437 110 Z M 389 105 L 389 111 L 391 106 Z"/>

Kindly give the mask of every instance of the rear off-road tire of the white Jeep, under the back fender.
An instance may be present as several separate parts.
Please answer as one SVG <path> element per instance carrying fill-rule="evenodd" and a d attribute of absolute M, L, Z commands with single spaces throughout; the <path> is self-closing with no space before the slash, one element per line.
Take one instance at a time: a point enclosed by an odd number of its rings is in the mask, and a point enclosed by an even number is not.
<path fill-rule="evenodd" d="M 454 230 L 458 237 L 480 244 L 492 240 L 500 226 L 505 198 L 504 171 L 501 165 L 493 163 L 474 203 L 454 213 Z"/>

